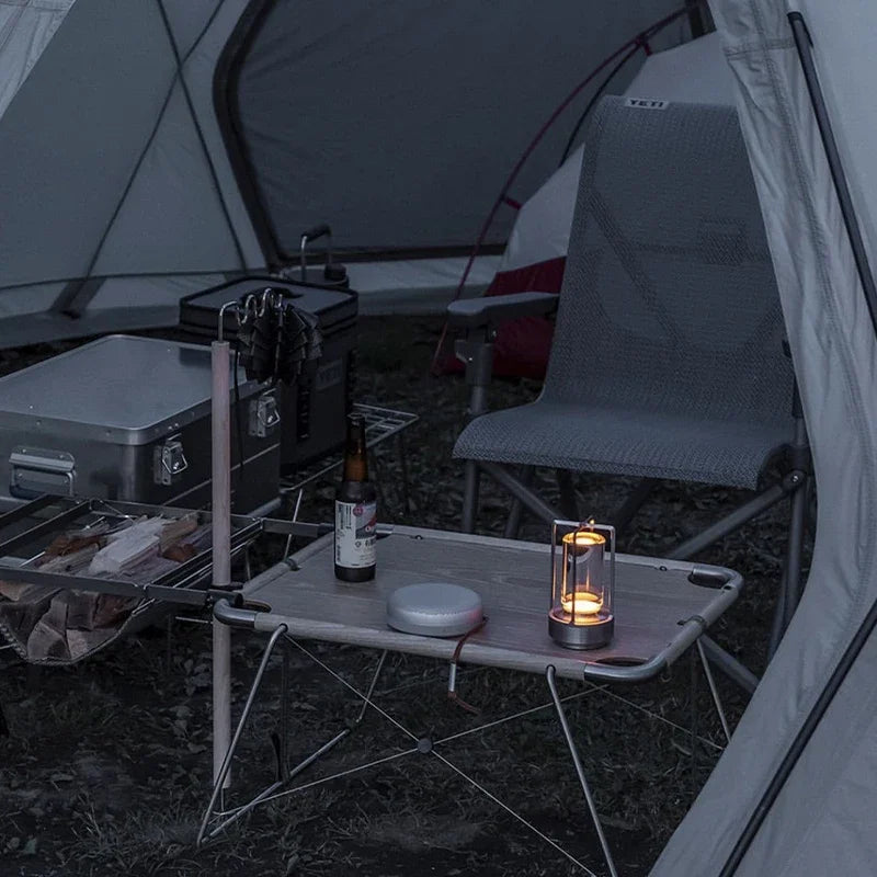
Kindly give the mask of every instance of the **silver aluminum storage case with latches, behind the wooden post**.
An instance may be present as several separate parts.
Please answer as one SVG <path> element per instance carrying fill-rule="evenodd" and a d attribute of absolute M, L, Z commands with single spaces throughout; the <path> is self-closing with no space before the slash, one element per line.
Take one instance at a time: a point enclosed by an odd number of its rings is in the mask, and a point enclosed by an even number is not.
<path fill-rule="evenodd" d="M 277 496 L 280 430 L 273 392 L 242 369 L 237 395 L 232 505 L 244 513 Z M 110 335 L 0 378 L 0 492 L 207 505 L 209 348 Z"/>

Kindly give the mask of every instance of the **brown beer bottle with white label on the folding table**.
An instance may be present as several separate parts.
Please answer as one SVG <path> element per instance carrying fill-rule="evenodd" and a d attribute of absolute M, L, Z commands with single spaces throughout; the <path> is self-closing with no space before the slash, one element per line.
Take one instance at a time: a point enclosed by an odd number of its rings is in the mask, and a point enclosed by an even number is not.
<path fill-rule="evenodd" d="M 335 577 L 345 582 L 375 578 L 377 491 L 368 480 L 365 418 L 348 415 L 344 475 L 335 491 Z"/>

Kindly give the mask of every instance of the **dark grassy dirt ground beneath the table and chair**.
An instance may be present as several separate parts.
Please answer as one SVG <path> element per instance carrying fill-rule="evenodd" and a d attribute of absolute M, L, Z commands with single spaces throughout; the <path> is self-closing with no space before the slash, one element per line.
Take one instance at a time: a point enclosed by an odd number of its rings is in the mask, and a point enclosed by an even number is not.
<path fill-rule="evenodd" d="M 432 319 L 364 320 L 356 396 L 420 417 L 406 435 L 408 505 L 395 447 L 384 446 L 374 456 L 381 517 L 447 529 L 458 526 L 463 468 L 452 460 L 451 448 L 467 394 L 462 378 L 429 373 L 440 327 Z M 2 371 L 52 352 L 2 354 Z M 492 405 L 520 403 L 537 390 L 532 381 L 501 383 Z M 549 494 L 554 489 L 547 477 L 542 486 Z M 577 482 L 581 508 L 597 519 L 615 509 L 629 487 L 626 479 L 608 477 Z M 316 485 L 299 516 L 328 520 L 332 490 L 331 481 Z M 662 483 L 619 547 L 660 556 L 744 497 L 744 491 Z M 479 531 L 501 533 L 506 510 L 504 496 L 488 486 Z M 781 506 L 701 558 L 745 576 L 743 596 L 714 633 L 756 672 L 765 660 L 786 515 Z M 545 540 L 546 527 L 527 521 L 522 537 Z M 260 565 L 276 561 L 282 549 L 278 538 L 265 537 L 258 549 Z M 166 627 L 149 628 L 65 669 L 27 668 L 11 651 L 0 651 L 0 703 L 10 730 L 0 739 L 0 876 L 586 873 L 498 801 L 593 873 L 605 873 L 557 722 L 544 708 L 544 680 L 464 669 L 460 692 L 483 710 L 475 717 L 448 705 L 446 668 L 399 656 L 388 660 L 375 699 L 418 737 L 440 740 L 526 713 L 459 736 L 442 749 L 451 765 L 492 798 L 438 759 L 400 754 L 410 749 L 409 739 L 369 710 L 341 745 L 303 775 L 300 784 L 312 785 L 258 808 L 196 848 L 210 779 L 210 638 L 204 622 L 202 616 L 174 622 L 170 636 Z M 301 645 L 310 656 L 295 648 L 289 654 L 294 759 L 305 758 L 356 715 L 357 704 L 332 673 L 365 686 L 377 658 L 361 649 Z M 238 705 L 263 647 L 260 636 L 234 635 Z M 277 656 L 242 740 L 235 796 L 275 775 L 280 668 Z M 721 751 L 720 727 L 695 671 L 686 659 L 645 686 L 560 686 L 561 695 L 574 695 L 568 703 L 570 724 L 618 868 L 627 877 L 648 873 Z M 722 677 L 718 684 L 734 724 L 745 697 Z M 381 759 L 389 760 L 356 770 Z M 316 782 L 324 777 L 334 778 Z"/>

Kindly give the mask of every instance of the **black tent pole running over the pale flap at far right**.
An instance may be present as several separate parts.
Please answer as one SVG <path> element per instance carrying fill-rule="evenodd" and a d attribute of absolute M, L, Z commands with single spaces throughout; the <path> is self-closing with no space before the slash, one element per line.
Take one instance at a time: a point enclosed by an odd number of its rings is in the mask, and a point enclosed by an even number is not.
<path fill-rule="evenodd" d="M 813 64 L 812 38 L 807 29 L 804 15 L 801 15 L 800 12 L 789 12 L 788 22 L 795 35 L 795 46 L 798 49 L 804 78 L 807 81 L 807 89 L 810 92 L 810 101 L 813 105 L 813 114 L 819 127 L 819 133 L 822 137 L 822 145 L 825 149 L 825 158 L 828 159 L 831 176 L 838 193 L 838 201 L 840 202 L 846 232 L 850 236 L 850 246 L 852 247 L 853 257 L 855 258 L 856 270 L 858 271 L 858 277 L 865 293 L 872 324 L 875 334 L 877 334 L 877 287 L 875 287 L 874 275 L 868 264 L 858 219 L 855 208 L 853 207 L 853 201 L 850 196 L 850 189 L 846 185 L 846 175 L 844 174 L 843 164 L 841 163 L 838 144 L 834 140 L 831 122 L 825 109 L 825 101 L 819 86 L 816 65 Z M 820 692 L 816 704 L 813 704 L 812 709 L 804 720 L 804 725 L 801 725 L 798 733 L 791 741 L 791 745 L 789 745 L 786 751 L 782 763 L 771 777 L 771 782 L 761 796 L 761 800 L 738 838 L 737 843 L 725 862 L 725 866 L 721 872 L 719 872 L 719 877 L 733 877 L 733 875 L 737 874 L 737 869 L 749 851 L 749 847 L 752 845 L 752 841 L 755 839 L 764 820 L 767 818 L 767 813 L 771 812 L 771 808 L 774 806 L 779 793 L 786 785 L 786 781 L 795 770 L 795 765 L 798 763 L 807 744 L 810 742 L 810 738 L 819 727 L 822 717 L 834 701 L 834 696 L 840 691 L 841 685 L 843 685 L 850 670 L 855 664 L 859 652 L 874 634 L 875 627 L 877 627 L 877 601 L 872 604 L 867 615 L 850 640 L 844 653 L 841 656 L 841 660 L 834 668 L 834 672 L 831 674 L 824 688 Z"/>

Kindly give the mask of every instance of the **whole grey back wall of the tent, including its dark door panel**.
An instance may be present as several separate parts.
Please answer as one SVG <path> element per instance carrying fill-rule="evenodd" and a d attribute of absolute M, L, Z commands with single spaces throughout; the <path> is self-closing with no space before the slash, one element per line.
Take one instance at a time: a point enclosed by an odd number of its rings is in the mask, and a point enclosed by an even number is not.
<path fill-rule="evenodd" d="M 531 133 L 680 3 L 0 0 L 0 344 L 174 323 L 319 223 L 363 312 L 447 300 Z"/>

